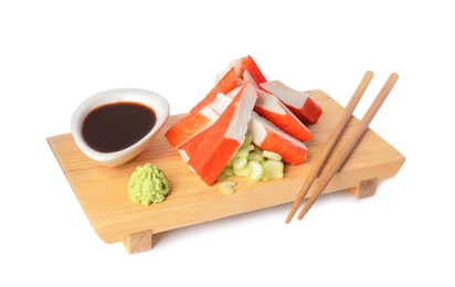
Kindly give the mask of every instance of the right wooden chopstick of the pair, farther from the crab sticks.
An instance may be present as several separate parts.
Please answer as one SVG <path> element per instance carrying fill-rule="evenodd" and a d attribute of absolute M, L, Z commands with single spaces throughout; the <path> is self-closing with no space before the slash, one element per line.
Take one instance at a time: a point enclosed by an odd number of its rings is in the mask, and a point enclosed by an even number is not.
<path fill-rule="evenodd" d="M 382 103 L 384 103 L 385 98 L 389 96 L 390 92 L 392 91 L 393 86 L 395 85 L 399 76 L 396 73 L 392 73 L 385 84 L 382 86 L 381 91 L 379 92 L 378 96 L 374 98 L 373 103 L 367 110 L 363 118 L 357 124 L 356 129 L 352 131 L 351 136 L 349 137 L 348 141 L 345 144 L 341 151 L 338 153 L 337 158 L 334 160 L 332 164 L 329 167 L 327 173 L 320 180 L 319 184 L 317 185 L 316 190 L 313 192 L 311 196 L 306 202 L 304 209 L 298 214 L 298 220 L 301 220 L 305 214 L 309 211 L 313 206 L 317 198 L 320 193 L 322 193 L 324 189 L 327 187 L 331 178 L 335 173 L 338 172 L 340 167 L 345 163 L 346 159 L 352 152 L 357 144 L 362 138 L 364 131 L 367 130 L 368 126 L 370 125 L 371 120 L 374 118 L 378 110 L 381 108 Z"/>

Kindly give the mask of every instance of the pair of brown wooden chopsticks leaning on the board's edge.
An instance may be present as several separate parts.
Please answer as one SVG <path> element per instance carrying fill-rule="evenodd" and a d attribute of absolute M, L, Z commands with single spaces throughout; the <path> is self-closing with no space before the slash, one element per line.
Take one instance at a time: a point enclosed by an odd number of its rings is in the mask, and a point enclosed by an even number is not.
<path fill-rule="evenodd" d="M 318 177 L 320 170 L 325 166 L 327 158 L 331 153 L 335 145 L 339 136 L 342 134 L 346 125 L 348 124 L 349 119 L 352 117 L 352 111 L 355 110 L 357 104 L 359 103 L 360 98 L 362 97 L 364 91 L 367 89 L 368 85 L 373 77 L 373 72 L 368 71 L 362 81 L 360 82 L 359 86 L 357 87 L 356 92 L 353 93 L 351 99 L 349 100 L 348 105 L 346 106 L 345 113 L 341 116 L 341 119 L 338 121 L 337 126 L 332 130 L 331 135 L 329 136 L 326 145 L 324 146 L 322 150 L 320 151 L 316 163 L 313 166 L 309 174 L 307 176 L 304 185 L 301 187 L 296 200 L 294 201 L 293 206 L 286 217 L 286 223 L 289 223 L 297 209 L 299 208 L 301 201 L 305 199 L 308 190 L 311 188 L 313 182 L 315 181 L 316 177 Z M 371 120 L 381 108 L 382 103 L 384 103 L 385 98 L 392 91 L 393 86 L 395 85 L 399 76 L 396 73 L 392 73 L 385 84 L 382 86 L 381 91 L 379 92 L 378 96 L 374 98 L 373 103 L 364 114 L 363 118 L 358 123 L 356 129 L 352 131 L 351 136 L 349 137 L 346 145 L 342 147 L 341 151 L 338 153 L 336 159 L 334 160 L 332 164 L 329 167 L 328 171 L 321 178 L 319 184 L 314 190 L 311 196 L 306 202 L 304 209 L 298 215 L 298 219 L 301 220 L 305 214 L 309 211 L 313 206 L 317 198 L 320 193 L 322 193 L 324 189 L 330 182 L 332 177 L 338 172 L 338 170 L 342 167 L 346 159 L 356 148 L 357 144 L 360 141 L 361 137 L 363 136 L 364 131 L 367 130 L 368 126 L 370 125 Z"/>

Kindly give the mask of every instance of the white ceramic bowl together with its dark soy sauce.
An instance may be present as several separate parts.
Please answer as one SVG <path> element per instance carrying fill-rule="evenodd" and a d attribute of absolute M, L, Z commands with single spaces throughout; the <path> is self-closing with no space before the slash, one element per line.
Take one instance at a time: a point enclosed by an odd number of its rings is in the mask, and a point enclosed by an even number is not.
<path fill-rule="evenodd" d="M 107 167 L 119 167 L 142 152 L 169 117 L 161 95 L 140 88 L 115 88 L 82 102 L 71 129 L 78 149 Z"/>

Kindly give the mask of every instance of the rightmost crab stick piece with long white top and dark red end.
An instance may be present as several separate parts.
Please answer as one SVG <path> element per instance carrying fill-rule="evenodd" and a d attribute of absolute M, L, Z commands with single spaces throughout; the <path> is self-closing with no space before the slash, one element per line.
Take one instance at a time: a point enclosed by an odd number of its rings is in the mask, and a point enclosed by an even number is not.
<path fill-rule="evenodd" d="M 296 91 L 281 81 L 260 84 L 261 88 L 274 94 L 303 123 L 316 124 L 322 115 L 322 108 L 307 93 Z"/>

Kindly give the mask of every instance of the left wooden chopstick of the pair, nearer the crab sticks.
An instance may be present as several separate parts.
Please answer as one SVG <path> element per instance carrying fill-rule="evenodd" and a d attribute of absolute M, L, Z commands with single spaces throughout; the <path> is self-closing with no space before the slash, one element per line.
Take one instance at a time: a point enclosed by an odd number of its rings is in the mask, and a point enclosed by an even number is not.
<path fill-rule="evenodd" d="M 359 103 L 360 98 L 362 97 L 364 91 L 367 89 L 368 85 L 371 82 L 371 78 L 373 77 L 373 72 L 368 71 L 362 81 L 360 82 L 359 86 L 352 94 L 348 105 L 346 106 L 346 109 L 338 121 L 337 126 L 334 128 L 331 131 L 327 142 L 325 144 L 322 150 L 319 152 L 318 158 L 316 159 L 316 163 L 313 166 L 311 170 L 309 171 L 304 185 L 301 187 L 296 200 L 294 201 L 293 206 L 290 208 L 289 213 L 287 214 L 286 217 L 286 223 L 289 223 L 294 216 L 294 214 L 297 212 L 298 206 L 300 205 L 301 201 L 305 199 L 306 194 L 308 193 L 308 190 L 310 189 L 313 182 L 319 174 L 320 170 L 322 169 L 324 164 L 326 163 L 327 158 L 331 153 L 331 150 L 334 149 L 335 144 L 337 142 L 339 136 L 343 131 L 346 125 L 348 124 L 349 119 L 352 117 L 352 111 L 356 109 L 357 104 Z"/>

